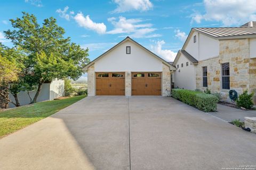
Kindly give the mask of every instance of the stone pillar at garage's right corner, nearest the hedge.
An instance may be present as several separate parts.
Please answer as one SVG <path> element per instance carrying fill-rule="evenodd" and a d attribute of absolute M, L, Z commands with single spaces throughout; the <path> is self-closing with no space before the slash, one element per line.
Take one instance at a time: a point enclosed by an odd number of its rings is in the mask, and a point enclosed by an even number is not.
<path fill-rule="evenodd" d="M 171 95 L 171 71 L 170 67 L 163 63 L 162 72 L 162 96 Z"/>

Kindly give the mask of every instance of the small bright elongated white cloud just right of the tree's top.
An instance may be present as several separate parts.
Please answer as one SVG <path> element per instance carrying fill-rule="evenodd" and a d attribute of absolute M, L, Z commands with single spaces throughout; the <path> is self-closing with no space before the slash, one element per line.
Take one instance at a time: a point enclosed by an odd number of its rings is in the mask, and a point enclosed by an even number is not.
<path fill-rule="evenodd" d="M 80 27 L 96 31 L 99 34 L 106 33 L 106 25 L 104 23 L 95 23 L 90 19 L 89 15 L 84 17 L 83 13 L 78 13 L 74 17 Z"/>

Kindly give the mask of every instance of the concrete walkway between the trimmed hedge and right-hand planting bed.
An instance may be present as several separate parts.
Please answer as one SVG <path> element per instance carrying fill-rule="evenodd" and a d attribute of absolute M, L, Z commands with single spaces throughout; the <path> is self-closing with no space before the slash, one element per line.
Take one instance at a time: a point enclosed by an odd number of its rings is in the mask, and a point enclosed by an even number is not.
<path fill-rule="evenodd" d="M 256 111 L 243 111 L 241 109 L 224 106 L 218 104 L 218 112 L 210 112 L 209 114 L 219 117 L 227 122 L 232 122 L 235 119 L 244 121 L 244 117 L 256 117 Z"/>

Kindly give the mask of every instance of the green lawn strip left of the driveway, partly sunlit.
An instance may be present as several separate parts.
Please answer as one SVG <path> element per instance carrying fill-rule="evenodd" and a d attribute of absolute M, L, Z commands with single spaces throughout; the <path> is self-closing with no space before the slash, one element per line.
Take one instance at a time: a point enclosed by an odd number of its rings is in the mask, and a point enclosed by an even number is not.
<path fill-rule="evenodd" d="M 0 112 L 0 138 L 42 120 L 84 97 L 44 101 Z"/>

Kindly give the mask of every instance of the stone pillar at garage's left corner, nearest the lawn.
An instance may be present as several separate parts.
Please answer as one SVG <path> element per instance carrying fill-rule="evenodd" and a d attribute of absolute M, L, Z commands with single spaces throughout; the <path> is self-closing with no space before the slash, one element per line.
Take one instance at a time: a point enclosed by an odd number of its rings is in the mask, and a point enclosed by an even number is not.
<path fill-rule="evenodd" d="M 95 71 L 94 64 L 87 71 L 88 96 L 95 96 Z"/>

